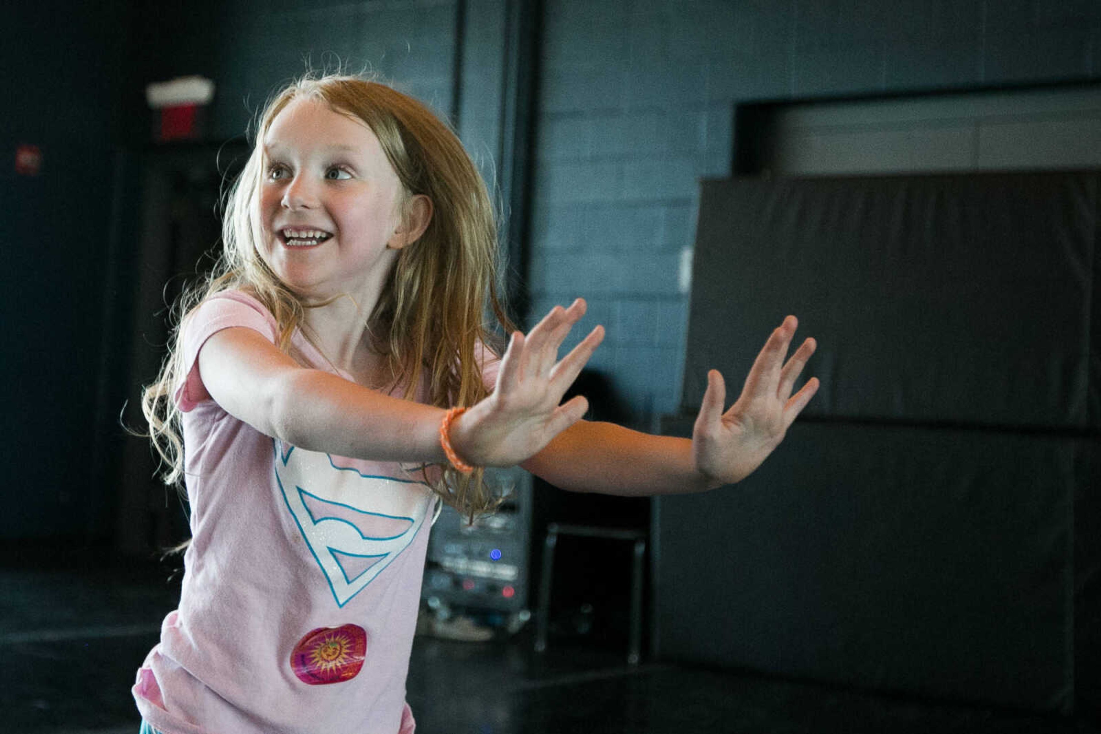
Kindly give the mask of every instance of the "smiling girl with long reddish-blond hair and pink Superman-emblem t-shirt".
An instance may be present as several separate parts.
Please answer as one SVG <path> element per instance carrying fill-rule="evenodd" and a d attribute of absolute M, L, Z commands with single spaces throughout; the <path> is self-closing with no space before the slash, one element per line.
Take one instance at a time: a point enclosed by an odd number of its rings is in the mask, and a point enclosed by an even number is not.
<path fill-rule="evenodd" d="M 428 530 L 440 503 L 492 509 L 481 467 L 584 492 L 709 489 L 760 465 L 818 387 L 792 395 L 815 344 L 785 364 L 788 316 L 730 410 L 709 374 L 691 440 L 581 420 L 585 398 L 559 402 L 603 330 L 562 359 L 584 301 L 512 330 L 469 156 L 421 104 L 357 77 L 269 104 L 224 246 L 144 398 L 192 507 L 179 608 L 133 687 L 167 734 L 413 732 Z"/>

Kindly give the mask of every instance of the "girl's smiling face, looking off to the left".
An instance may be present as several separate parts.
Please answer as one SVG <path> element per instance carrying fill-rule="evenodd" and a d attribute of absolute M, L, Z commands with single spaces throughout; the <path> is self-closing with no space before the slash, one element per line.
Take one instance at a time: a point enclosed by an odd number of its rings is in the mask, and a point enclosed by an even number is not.
<path fill-rule="evenodd" d="M 324 100 L 298 98 L 263 150 L 261 257 L 299 295 L 349 294 L 370 313 L 406 244 L 404 192 L 379 139 Z"/>

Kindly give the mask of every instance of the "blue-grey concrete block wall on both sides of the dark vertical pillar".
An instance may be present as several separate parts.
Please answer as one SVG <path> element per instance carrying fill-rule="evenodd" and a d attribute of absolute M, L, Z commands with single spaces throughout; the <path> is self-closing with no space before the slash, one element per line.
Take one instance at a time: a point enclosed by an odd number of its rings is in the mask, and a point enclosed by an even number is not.
<path fill-rule="evenodd" d="M 461 37 L 457 0 L 198 6 L 173 14 L 148 3 L 140 26 L 151 80 L 218 80 L 212 137 L 240 134 L 304 60 L 339 60 L 458 112 L 464 141 L 499 181 L 504 0 L 468 0 Z M 541 54 L 527 321 L 587 298 L 585 324 L 608 328 L 592 366 L 648 424 L 679 404 L 697 181 L 729 174 L 735 104 L 1097 78 L 1101 4 L 544 0 Z M 737 390 L 743 376 L 727 377 Z"/>

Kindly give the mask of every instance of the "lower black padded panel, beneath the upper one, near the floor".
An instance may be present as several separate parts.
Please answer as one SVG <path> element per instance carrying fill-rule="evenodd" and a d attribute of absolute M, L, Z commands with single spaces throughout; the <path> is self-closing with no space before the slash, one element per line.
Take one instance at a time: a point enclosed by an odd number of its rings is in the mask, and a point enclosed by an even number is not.
<path fill-rule="evenodd" d="M 1090 445 L 796 423 L 740 485 L 656 501 L 659 655 L 1066 711 Z"/>

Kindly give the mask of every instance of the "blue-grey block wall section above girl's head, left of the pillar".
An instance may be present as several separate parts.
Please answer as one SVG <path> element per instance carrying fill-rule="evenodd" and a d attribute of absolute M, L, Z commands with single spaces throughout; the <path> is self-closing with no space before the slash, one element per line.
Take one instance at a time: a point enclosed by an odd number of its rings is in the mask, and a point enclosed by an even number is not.
<path fill-rule="evenodd" d="M 378 74 L 449 118 L 457 7 L 455 0 L 200 0 L 185 10 L 148 3 L 139 35 L 148 80 L 184 74 L 216 80 L 207 132 L 224 140 L 242 134 L 268 95 L 307 66 Z"/>

